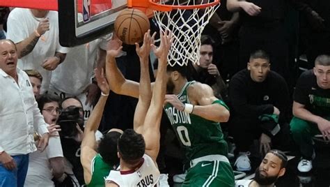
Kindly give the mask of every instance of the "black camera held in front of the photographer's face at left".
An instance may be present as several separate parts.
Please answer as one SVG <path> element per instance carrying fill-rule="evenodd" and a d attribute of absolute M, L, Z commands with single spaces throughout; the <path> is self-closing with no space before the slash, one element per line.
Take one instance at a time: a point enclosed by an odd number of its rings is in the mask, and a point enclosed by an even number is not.
<path fill-rule="evenodd" d="M 61 137 L 74 137 L 77 135 L 77 124 L 84 130 L 84 119 L 81 117 L 81 107 L 68 107 L 62 110 L 61 115 L 58 117 L 58 125 L 61 126 Z"/>

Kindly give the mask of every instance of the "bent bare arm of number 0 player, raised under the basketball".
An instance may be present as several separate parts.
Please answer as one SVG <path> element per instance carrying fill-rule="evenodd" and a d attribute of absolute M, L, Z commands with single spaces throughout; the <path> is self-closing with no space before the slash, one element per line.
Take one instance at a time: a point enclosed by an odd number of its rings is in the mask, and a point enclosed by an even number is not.
<path fill-rule="evenodd" d="M 116 57 L 120 54 L 123 43 L 113 33 L 113 38 L 108 43 L 107 57 L 106 57 L 106 73 L 110 88 L 113 92 L 125 96 L 132 96 L 139 98 L 139 83 L 131 80 L 126 80 L 124 75 L 117 67 Z"/>

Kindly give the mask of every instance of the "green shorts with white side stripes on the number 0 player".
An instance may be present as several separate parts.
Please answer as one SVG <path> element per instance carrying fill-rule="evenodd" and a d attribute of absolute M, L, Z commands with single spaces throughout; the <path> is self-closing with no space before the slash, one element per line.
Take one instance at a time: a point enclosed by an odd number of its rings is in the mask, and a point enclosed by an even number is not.
<path fill-rule="evenodd" d="M 233 169 L 229 163 L 220 160 L 199 162 L 188 170 L 183 186 L 235 186 Z"/>

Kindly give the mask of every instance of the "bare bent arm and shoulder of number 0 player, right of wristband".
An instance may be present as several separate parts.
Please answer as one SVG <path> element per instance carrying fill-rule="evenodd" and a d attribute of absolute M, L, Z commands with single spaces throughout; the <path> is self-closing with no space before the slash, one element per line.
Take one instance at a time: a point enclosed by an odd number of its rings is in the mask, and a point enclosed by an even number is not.
<path fill-rule="evenodd" d="M 207 84 L 196 83 L 188 87 L 188 96 L 194 103 L 192 114 L 198 115 L 210 121 L 226 122 L 229 119 L 229 111 L 226 107 L 217 103 L 212 88 Z"/>

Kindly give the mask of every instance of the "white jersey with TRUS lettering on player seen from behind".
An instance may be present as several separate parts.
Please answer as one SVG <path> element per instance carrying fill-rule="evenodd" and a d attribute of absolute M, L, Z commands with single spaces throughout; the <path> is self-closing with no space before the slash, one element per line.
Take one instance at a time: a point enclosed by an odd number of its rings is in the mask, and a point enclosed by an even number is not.
<path fill-rule="evenodd" d="M 113 181 L 123 187 L 159 186 L 160 172 L 154 161 L 147 154 L 143 155 L 142 165 L 131 171 L 111 170 L 106 181 Z"/>

